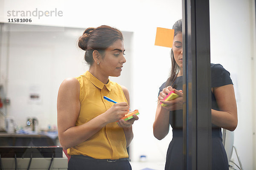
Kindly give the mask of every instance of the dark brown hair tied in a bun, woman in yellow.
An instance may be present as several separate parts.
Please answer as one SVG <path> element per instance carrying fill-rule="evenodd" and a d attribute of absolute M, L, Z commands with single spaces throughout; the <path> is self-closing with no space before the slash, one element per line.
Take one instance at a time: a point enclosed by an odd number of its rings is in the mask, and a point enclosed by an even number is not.
<path fill-rule="evenodd" d="M 84 60 L 92 65 L 94 62 L 93 51 L 97 50 L 103 55 L 105 49 L 118 39 L 123 40 L 123 36 L 122 32 L 116 28 L 110 26 L 90 27 L 79 37 L 78 46 L 85 51 Z"/>

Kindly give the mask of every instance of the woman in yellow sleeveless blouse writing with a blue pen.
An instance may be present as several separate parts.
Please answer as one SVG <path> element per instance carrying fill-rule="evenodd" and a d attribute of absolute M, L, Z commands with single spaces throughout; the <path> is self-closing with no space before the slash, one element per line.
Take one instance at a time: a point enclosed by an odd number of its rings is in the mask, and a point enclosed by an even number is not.
<path fill-rule="evenodd" d="M 85 51 L 90 69 L 65 79 L 57 100 L 59 140 L 71 155 L 68 168 L 131 170 L 126 147 L 133 139 L 132 124 L 138 117 L 121 119 L 129 111 L 129 92 L 108 79 L 119 77 L 126 62 L 122 33 L 110 26 L 87 28 L 78 45 Z"/>

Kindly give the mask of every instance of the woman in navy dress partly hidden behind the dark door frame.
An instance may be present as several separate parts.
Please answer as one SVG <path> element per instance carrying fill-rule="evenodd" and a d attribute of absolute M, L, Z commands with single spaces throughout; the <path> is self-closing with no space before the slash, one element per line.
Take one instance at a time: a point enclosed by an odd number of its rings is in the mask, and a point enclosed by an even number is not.
<path fill-rule="evenodd" d="M 182 91 L 182 20 L 178 20 L 175 30 L 171 57 L 172 70 L 169 79 L 160 87 L 158 105 L 153 125 L 154 136 L 161 140 L 172 126 L 173 138 L 166 155 L 165 170 L 183 169 L 183 91 Z M 237 126 L 236 98 L 230 73 L 220 64 L 211 64 L 212 80 L 212 170 L 228 170 L 227 154 L 222 144 L 221 128 L 233 131 Z M 178 98 L 163 101 L 170 91 Z M 167 104 L 161 106 L 160 102 Z"/>

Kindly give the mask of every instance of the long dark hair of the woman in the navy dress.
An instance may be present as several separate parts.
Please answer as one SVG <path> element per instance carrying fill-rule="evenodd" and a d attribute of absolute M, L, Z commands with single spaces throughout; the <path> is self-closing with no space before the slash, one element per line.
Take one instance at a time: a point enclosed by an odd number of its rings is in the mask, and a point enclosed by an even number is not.
<path fill-rule="evenodd" d="M 182 33 L 182 20 L 177 20 L 176 23 L 172 26 L 172 29 L 174 29 L 174 37 L 178 33 Z M 177 74 L 180 71 L 180 67 L 177 65 L 174 59 L 174 54 L 172 50 L 171 50 L 171 59 L 172 59 L 172 68 L 171 68 L 170 76 L 166 81 L 166 85 L 165 85 L 166 87 L 169 85 L 173 86 L 173 83 L 177 78 Z"/>

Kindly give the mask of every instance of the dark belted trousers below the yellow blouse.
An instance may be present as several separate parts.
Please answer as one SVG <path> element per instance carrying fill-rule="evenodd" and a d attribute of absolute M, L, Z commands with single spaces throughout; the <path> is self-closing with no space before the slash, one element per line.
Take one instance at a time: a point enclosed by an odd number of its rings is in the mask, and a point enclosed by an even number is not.
<path fill-rule="evenodd" d="M 129 161 L 107 162 L 71 157 L 68 170 L 131 170 L 131 165 Z"/>

